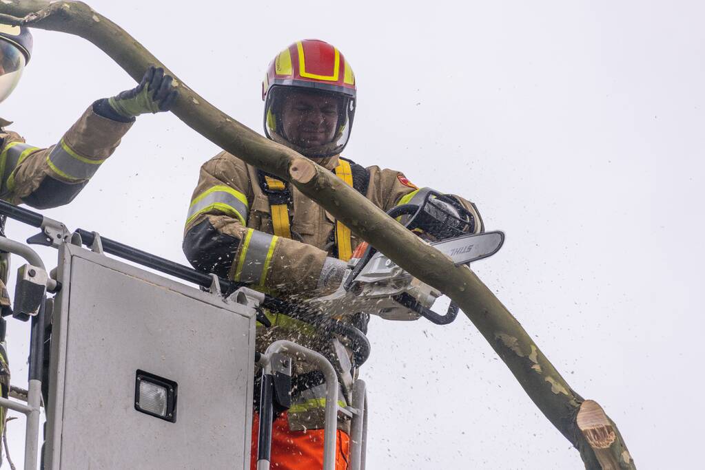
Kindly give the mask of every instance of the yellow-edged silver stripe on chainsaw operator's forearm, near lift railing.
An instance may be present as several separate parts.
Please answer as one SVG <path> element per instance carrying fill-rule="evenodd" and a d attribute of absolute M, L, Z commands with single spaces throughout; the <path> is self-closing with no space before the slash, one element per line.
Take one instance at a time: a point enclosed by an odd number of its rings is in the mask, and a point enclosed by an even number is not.
<path fill-rule="evenodd" d="M 243 246 L 240 248 L 238 265 L 235 267 L 235 281 L 255 282 L 259 286 L 264 286 L 278 239 L 276 235 L 248 229 Z"/>

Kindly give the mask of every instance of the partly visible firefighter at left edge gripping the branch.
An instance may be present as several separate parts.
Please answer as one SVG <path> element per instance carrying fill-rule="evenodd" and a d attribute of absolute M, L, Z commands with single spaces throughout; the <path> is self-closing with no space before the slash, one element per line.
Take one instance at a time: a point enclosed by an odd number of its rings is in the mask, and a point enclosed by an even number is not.
<path fill-rule="evenodd" d="M 0 101 L 16 87 L 32 54 L 32 34 L 26 27 L 0 24 Z M 58 144 L 38 148 L 25 143 L 16 132 L 6 130 L 11 122 L 0 119 L 0 198 L 34 208 L 68 204 L 85 187 L 100 165 L 115 151 L 120 139 L 142 113 L 168 110 L 176 100 L 172 77 L 161 68 L 149 68 L 132 90 L 109 99 L 99 99 L 68 129 Z M 5 217 L 0 219 L 4 236 Z M 0 255 L 0 306 L 2 317 L 11 315 L 5 284 L 9 256 Z M 10 372 L 5 348 L 5 319 L 0 318 L 0 384 L 8 396 Z M 5 409 L 0 408 L 0 436 Z"/>

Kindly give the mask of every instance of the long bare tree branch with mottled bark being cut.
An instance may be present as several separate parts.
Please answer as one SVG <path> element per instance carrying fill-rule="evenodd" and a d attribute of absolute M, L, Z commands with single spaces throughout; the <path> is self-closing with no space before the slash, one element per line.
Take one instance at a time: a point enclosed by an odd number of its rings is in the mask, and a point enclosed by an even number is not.
<path fill-rule="evenodd" d="M 14 20 L 22 18 L 24 25 L 83 37 L 136 81 L 149 65 L 168 70 L 121 27 L 82 2 L 2 0 L 0 13 Z M 568 386 L 515 317 L 470 269 L 453 265 L 331 172 L 240 124 L 180 80 L 175 83 L 180 93 L 173 113 L 186 125 L 250 165 L 295 184 L 400 267 L 453 299 L 541 412 L 580 451 L 587 469 L 636 468 L 613 421 L 596 402 L 584 401 Z"/>

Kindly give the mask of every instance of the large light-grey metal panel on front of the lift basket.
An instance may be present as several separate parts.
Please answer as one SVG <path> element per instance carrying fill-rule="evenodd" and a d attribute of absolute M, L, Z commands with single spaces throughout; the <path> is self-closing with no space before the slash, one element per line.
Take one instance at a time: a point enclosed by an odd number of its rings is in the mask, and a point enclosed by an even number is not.
<path fill-rule="evenodd" d="M 75 246 L 59 277 L 50 468 L 247 468 L 254 311 Z M 178 383 L 175 423 L 135 410 L 137 369 Z"/>

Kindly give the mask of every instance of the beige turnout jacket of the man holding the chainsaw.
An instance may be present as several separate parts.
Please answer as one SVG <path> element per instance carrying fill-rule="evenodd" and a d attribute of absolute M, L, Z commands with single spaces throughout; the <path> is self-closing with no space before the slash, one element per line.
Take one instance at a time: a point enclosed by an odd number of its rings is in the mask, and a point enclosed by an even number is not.
<path fill-rule="evenodd" d="M 338 158 L 334 158 L 326 167 L 333 170 L 338 163 Z M 400 172 L 376 166 L 363 168 L 355 163 L 351 167 L 355 189 L 385 211 L 409 202 L 419 192 Z M 276 210 L 261 181 L 262 175 L 255 167 L 230 153 L 221 152 L 207 161 L 201 167 L 188 211 L 184 252 L 197 269 L 250 282 L 255 288 L 278 296 L 310 296 L 317 288 L 326 258 L 338 256 L 333 235 L 336 221 L 295 186 L 287 184 L 290 198 L 285 203 L 291 238 L 275 236 Z M 458 200 L 475 215 L 476 230 L 481 231 L 482 222 L 474 205 L 462 198 Z M 360 242 L 353 233 L 352 249 Z M 278 339 L 288 339 L 329 354 L 329 332 L 317 331 L 285 315 L 271 315 L 270 319 L 270 328 L 257 327 L 260 352 Z M 305 365 L 297 364 L 295 375 L 307 371 Z M 294 396 L 289 410 L 290 427 L 321 427 L 323 396 L 321 387 Z M 341 401 L 345 403 L 342 398 Z M 339 426 L 347 429 L 345 423 L 339 422 Z"/>

